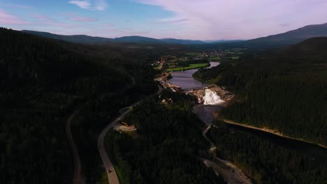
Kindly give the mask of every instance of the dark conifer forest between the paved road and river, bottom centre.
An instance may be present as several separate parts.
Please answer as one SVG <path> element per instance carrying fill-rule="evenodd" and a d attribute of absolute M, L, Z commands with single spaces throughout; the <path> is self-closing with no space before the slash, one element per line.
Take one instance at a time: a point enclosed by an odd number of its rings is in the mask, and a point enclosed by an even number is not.
<path fill-rule="evenodd" d="M 210 145 L 202 137 L 203 123 L 191 112 L 195 102 L 163 91 L 124 119 L 136 125 L 136 136 L 108 133 L 108 151 L 122 183 L 224 183 L 199 159 L 208 156 Z"/>

